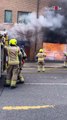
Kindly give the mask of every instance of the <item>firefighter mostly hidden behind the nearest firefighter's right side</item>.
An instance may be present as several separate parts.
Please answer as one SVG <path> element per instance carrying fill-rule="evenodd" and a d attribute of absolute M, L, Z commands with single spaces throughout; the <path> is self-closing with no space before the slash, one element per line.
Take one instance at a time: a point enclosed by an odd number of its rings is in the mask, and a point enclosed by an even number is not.
<path fill-rule="evenodd" d="M 24 77 L 22 76 L 22 67 L 23 67 L 23 64 L 25 62 L 25 59 L 27 58 L 27 55 L 24 51 L 23 48 L 20 49 L 22 55 L 19 56 L 19 72 L 18 72 L 18 80 L 17 80 L 17 83 L 24 83 Z"/>

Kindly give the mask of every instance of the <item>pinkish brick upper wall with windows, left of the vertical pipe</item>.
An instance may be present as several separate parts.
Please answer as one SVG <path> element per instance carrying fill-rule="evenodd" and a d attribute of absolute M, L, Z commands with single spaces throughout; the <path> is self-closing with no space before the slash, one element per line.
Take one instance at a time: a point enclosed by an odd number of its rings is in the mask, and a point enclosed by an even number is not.
<path fill-rule="evenodd" d="M 3 0 L 0 9 L 0 23 L 12 25 L 18 22 L 18 16 L 22 12 L 36 11 L 36 2 L 32 0 Z"/>

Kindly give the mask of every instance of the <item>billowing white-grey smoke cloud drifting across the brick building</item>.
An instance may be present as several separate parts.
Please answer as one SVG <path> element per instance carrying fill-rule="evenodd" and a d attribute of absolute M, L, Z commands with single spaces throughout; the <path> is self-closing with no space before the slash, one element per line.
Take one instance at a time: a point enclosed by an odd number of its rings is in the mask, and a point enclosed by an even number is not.
<path fill-rule="evenodd" d="M 20 18 L 23 20 L 23 17 Z M 32 37 L 36 33 L 39 33 L 42 28 L 48 28 L 49 30 L 60 29 L 63 26 L 64 16 L 56 13 L 54 11 L 43 11 L 42 15 L 30 13 L 27 16 L 26 24 L 19 23 L 15 24 L 12 29 L 8 32 L 9 37 L 27 40 L 29 37 Z"/>

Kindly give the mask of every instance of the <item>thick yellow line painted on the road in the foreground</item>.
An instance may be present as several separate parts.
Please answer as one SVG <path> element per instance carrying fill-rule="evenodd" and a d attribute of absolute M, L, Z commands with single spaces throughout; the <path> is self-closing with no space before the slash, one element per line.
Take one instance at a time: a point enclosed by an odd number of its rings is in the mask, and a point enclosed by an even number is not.
<path fill-rule="evenodd" d="M 30 109 L 41 109 L 41 108 L 54 108 L 54 105 L 43 105 L 43 106 L 4 106 L 2 110 L 30 110 Z"/>

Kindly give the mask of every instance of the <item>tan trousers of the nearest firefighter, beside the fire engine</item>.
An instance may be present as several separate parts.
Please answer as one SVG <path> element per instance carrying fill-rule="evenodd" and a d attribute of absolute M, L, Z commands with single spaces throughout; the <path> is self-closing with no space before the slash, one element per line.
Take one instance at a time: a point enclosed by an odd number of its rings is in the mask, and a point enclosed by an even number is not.
<path fill-rule="evenodd" d="M 9 65 L 7 68 L 6 85 L 16 87 L 18 65 Z"/>

